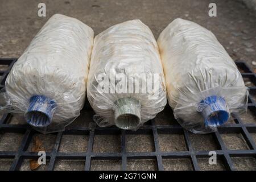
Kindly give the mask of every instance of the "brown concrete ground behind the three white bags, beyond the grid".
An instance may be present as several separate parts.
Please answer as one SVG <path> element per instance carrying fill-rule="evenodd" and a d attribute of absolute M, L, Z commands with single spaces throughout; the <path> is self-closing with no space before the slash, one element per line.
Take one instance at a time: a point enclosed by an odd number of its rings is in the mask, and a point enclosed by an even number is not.
<path fill-rule="evenodd" d="M 38 3 L 46 3 L 46 17 L 38 17 Z M 217 17 L 208 16 L 208 5 L 215 2 Z M 80 19 L 93 28 L 95 35 L 130 19 L 141 19 L 158 38 L 175 18 L 193 20 L 212 31 L 233 59 L 253 67 L 255 60 L 256 18 L 241 1 L 31 1 L 0 2 L 0 57 L 19 57 L 47 19 L 60 13 Z"/>

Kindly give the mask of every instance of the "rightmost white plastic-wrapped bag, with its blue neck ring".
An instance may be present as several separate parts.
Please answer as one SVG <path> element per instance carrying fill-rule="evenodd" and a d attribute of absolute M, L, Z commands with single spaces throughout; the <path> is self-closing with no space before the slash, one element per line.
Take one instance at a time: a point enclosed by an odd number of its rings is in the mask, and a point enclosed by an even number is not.
<path fill-rule="evenodd" d="M 177 121 L 193 133 L 209 133 L 247 109 L 248 90 L 236 64 L 212 32 L 175 19 L 158 46 L 169 105 Z"/>

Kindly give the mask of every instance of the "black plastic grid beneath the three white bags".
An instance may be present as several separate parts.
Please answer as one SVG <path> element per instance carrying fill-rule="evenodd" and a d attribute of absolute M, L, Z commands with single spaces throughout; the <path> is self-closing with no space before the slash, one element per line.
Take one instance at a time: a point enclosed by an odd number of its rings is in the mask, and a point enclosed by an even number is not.
<path fill-rule="evenodd" d="M 0 71 L 0 87 L 3 88 L 10 68 L 13 66 L 17 59 L 0 59 L 0 65 L 8 65 L 5 71 Z M 244 78 L 249 78 L 250 81 L 256 85 L 255 73 L 253 73 L 249 67 L 242 61 L 236 61 L 238 68 Z M 256 95 L 256 86 L 250 87 L 249 104 L 248 109 L 256 113 L 256 101 L 253 100 L 253 95 Z M 166 106 L 170 110 L 170 120 L 174 118 L 171 108 Z M 92 110 L 88 103 L 85 104 L 83 111 Z M 36 152 L 26 151 L 28 145 L 32 140 L 32 136 L 36 131 L 32 130 L 29 125 L 11 125 L 7 124 L 11 114 L 4 114 L 0 120 L 0 134 L 1 133 L 23 133 L 24 137 L 17 151 L 0 151 L 0 159 L 13 159 L 10 170 L 19 170 L 24 159 L 36 159 L 38 154 Z M 218 127 L 218 131 L 212 134 L 214 142 L 218 145 L 218 150 L 215 150 L 217 156 L 224 161 L 225 168 L 228 170 L 236 170 L 232 162 L 232 157 L 253 157 L 256 158 L 256 144 L 254 142 L 251 133 L 256 133 L 255 123 L 245 123 L 240 118 L 240 115 L 233 115 L 235 123 L 227 123 L 224 126 Z M 92 118 L 91 118 L 92 119 Z M 173 119 L 172 119 L 173 120 Z M 85 121 L 88 122 L 88 121 Z M 225 146 L 222 140 L 221 134 L 226 133 L 241 133 L 246 141 L 249 149 L 247 150 L 229 150 Z M 59 152 L 59 146 L 63 135 L 87 135 L 89 137 L 87 151 L 86 152 Z M 96 135 L 121 135 L 121 152 L 93 152 L 93 142 Z M 148 134 L 154 138 L 155 151 L 152 152 L 127 152 L 126 151 L 126 137 L 127 135 L 141 135 Z M 160 150 L 159 134 L 182 134 L 184 136 L 187 151 L 168 151 L 163 152 Z M 172 142 L 172 141 L 167 141 Z M 155 159 L 158 170 L 164 170 L 163 159 L 190 159 L 192 168 L 194 170 L 200 170 L 197 162 L 198 158 L 209 158 L 209 151 L 196 151 L 192 147 L 191 139 L 189 138 L 189 132 L 184 130 L 180 125 L 157 125 L 155 119 L 148 121 L 146 125 L 142 126 L 139 130 L 125 131 L 120 130 L 117 127 L 100 128 L 96 125 L 89 127 L 71 127 L 63 132 L 59 132 L 56 135 L 54 147 L 51 152 L 46 152 L 48 162 L 47 170 L 53 170 L 56 160 L 58 159 L 70 159 L 85 160 L 84 170 L 90 170 L 92 160 L 121 160 L 121 169 L 127 169 L 127 160 L 130 159 Z"/>

